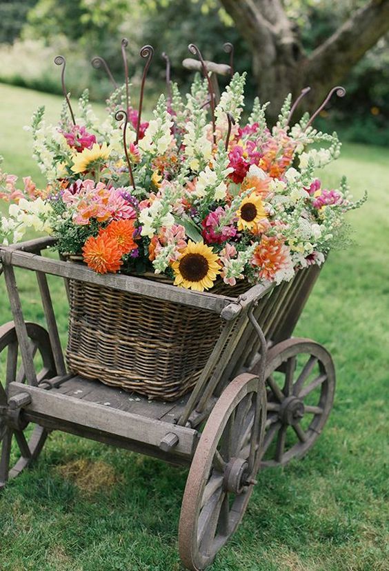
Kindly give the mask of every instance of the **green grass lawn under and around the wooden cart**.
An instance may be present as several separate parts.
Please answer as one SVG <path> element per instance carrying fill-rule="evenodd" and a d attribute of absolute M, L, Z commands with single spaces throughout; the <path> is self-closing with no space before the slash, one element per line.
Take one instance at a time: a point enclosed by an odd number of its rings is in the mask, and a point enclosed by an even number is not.
<path fill-rule="evenodd" d="M 0 85 L 0 154 L 30 174 L 21 130 L 44 101 Z M 347 174 L 366 206 L 350 215 L 355 246 L 332 252 L 295 334 L 332 352 L 337 393 L 305 459 L 259 474 L 246 516 L 215 571 L 388 570 L 389 152 L 347 145 L 326 183 Z M 53 283 L 66 339 L 61 283 Z M 26 317 L 43 323 L 34 276 L 20 281 Z M 0 280 L 0 323 L 10 319 Z M 186 470 L 53 433 L 34 468 L 0 498 L 1 571 L 179 571 L 177 525 Z"/>

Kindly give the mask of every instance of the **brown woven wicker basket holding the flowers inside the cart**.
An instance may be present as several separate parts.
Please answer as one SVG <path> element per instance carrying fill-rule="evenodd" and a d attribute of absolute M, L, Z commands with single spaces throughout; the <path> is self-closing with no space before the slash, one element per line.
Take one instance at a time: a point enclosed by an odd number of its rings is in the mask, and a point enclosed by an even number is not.
<path fill-rule="evenodd" d="M 72 372 L 166 401 L 194 386 L 219 336 L 217 315 L 82 281 L 69 287 Z M 248 288 L 212 291 L 235 297 Z"/>

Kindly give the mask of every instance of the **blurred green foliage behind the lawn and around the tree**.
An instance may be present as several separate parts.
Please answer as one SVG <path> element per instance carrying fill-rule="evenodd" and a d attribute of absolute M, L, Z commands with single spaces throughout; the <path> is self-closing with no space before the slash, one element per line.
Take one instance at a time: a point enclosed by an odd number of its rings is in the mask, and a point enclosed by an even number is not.
<path fill-rule="evenodd" d="M 363 0 L 286 0 L 288 15 L 300 30 L 309 52 L 322 43 Z M 150 70 L 149 95 L 163 88 L 161 52 L 172 60 L 172 75 L 186 86 L 189 74 L 181 62 L 188 57 L 188 43 L 198 43 L 203 54 L 228 61 L 223 43 L 235 44 L 237 70 L 248 70 L 251 55 L 244 38 L 218 0 L 3 0 L 0 4 L 0 81 L 37 90 L 60 93 L 52 59 L 57 53 L 68 59 L 67 83 L 72 94 L 90 88 L 92 99 L 103 101 L 110 84 L 103 72 L 90 66 L 94 55 L 107 59 L 115 77 L 123 77 L 120 41 L 127 37 L 134 90 L 143 62 L 139 48 L 151 43 L 155 59 Z M 389 144 L 389 39 L 383 37 L 350 71 L 344 82 L 346 100 L 326 121 L 341 130 L 343 139 Z M 248 96 L 255 84 L 248 84 Z"/>

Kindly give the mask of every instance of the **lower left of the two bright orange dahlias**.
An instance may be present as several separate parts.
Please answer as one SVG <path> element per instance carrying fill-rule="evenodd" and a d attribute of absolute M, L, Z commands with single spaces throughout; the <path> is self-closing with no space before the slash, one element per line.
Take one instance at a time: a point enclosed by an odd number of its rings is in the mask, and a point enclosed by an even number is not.
<path fill-rule="evenodd" d="M 83 259 L 91 268 L 99 274 L 117 272 L 123 263 L 121 250 L 117 240 L 107 234 L 94 238 L 90 236 L 83 246 Z"/>

